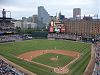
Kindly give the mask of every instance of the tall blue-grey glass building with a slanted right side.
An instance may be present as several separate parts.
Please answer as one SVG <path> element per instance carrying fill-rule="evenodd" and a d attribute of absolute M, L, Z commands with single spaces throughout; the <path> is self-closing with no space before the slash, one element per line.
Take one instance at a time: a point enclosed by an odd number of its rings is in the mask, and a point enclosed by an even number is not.
<path fill-rule="evenodd" d="M 50 23 L 50 15 L 43 6 L 38 7 L 38 28 L 46 28 Z"/>

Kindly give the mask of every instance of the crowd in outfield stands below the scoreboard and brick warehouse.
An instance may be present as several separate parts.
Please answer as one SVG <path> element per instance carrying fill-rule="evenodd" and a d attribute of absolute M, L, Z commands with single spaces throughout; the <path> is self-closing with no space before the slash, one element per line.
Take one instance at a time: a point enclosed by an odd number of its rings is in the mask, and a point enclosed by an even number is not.
<path fill-rule="evenodd" d="M 57 33 L 50 33 L 48 34 L 48 38 L 49 39 L 68 39 L 68 40 L 86 40 L 86 39 L 82 39 L 83 38 L 87 38 L 87 41 L 91 41 L 92 37 L 91 36 L 79 36 L 79 35 L 75 35 L 75 34 L 57 34 Z M 88 40 L 89 39 L 89 40 Z M 100 40 L 100 36 L 97 36 L 95 38 L 95 41 L 99 41 Z"/>

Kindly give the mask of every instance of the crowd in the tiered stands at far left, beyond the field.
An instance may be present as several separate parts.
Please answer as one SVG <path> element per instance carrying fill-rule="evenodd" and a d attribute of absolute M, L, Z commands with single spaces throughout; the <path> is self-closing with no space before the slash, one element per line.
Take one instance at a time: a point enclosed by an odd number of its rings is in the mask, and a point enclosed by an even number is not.
<path fill-rule="evenodd" d="M 10 21 L 0 22 L 0 42 L 10 42 L 20 39 L 19 35 L 9 35 L 12 32 L 14 32 L 14 25 Z"/>

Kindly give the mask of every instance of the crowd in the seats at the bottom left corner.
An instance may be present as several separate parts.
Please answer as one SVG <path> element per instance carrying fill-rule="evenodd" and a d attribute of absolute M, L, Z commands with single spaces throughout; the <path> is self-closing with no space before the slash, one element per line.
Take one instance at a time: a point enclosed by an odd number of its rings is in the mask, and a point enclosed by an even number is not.
<path fill-rule="evenodd" d="M 26 75 L 15 67 L 0 59 L 0 75 Z"/>

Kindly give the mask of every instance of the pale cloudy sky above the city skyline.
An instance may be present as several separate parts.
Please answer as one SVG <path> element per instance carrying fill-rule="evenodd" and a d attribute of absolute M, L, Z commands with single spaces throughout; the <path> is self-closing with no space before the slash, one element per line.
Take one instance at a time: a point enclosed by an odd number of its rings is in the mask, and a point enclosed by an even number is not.
<path fill-rule="evenodd" d="M 0 0 L 1 10 L 11 11 L 12 18 L 21 19 L 37 14 L 38 6 L 44 6 L 51 16 L 61 12 L 67 18 L 73 16 L 73 8 L 81 8 L 83 15 L 99 14 L 100 0 Z M 7 13 L 9 16 L 9 12 Z"/>

